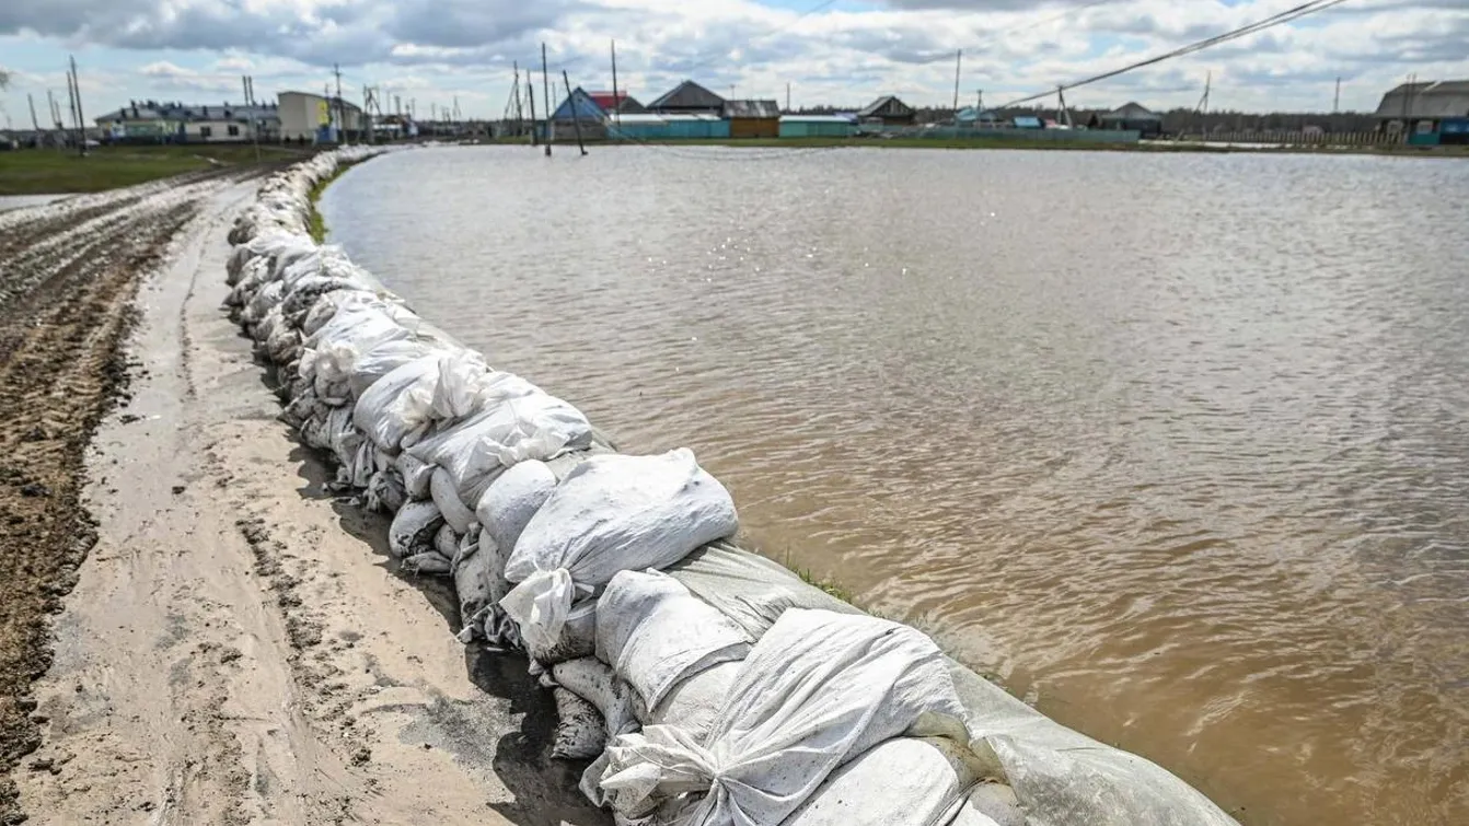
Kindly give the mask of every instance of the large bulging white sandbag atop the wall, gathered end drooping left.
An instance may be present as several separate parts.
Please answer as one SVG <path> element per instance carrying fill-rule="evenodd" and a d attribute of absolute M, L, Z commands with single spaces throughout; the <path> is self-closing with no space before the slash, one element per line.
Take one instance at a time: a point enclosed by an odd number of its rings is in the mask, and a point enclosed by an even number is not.
<path fill-rule="evenodd" d="M 686 449 L 595 456 L 557 486 L 505 565 L 501 604 L 527 646 L 549 647 L 576 599 L 618 571 L 673 565 L 739 528 L 724 486 Z"/>

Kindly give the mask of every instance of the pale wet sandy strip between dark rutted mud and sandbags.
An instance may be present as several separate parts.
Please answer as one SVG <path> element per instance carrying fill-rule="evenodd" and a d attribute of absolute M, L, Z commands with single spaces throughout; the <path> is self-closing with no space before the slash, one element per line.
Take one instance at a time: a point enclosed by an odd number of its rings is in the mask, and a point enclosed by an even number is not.
<path fill-rule="evenodd" d="M 548 759 L 549 692 L 466 648 L 439 581 L 331 477 L 225 318 L 225 233 L 190 210 L 138 304 L 131 401 L 97 427 L 95 546 L 22 709 L 31 823 L 605 823 Z M 82 550 L 81 553 L 85 553 Z M 3 767 L 0 767 L 3 769 Z"/>

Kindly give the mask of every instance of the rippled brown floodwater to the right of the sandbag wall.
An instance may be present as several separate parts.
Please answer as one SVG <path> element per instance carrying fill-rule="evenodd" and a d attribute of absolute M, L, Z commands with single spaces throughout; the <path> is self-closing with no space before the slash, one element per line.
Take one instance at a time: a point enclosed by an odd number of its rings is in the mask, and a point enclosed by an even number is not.
<path fill-rule="evenodd" d="M 1469 163 L 485 147 L 332 238 L 1247 825 L 1469 823 Z"/>

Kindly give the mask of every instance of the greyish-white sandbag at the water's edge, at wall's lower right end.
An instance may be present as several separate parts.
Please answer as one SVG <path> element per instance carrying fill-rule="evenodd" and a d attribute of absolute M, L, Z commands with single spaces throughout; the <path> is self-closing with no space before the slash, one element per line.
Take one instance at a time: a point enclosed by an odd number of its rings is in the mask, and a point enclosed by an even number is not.
<path fill-rule="evenodd" d="M 1046 717 L 945 657 L 968 712 L 970 748 L 997 766 L 1033 826 L 1238 826 L 1156 763 Z"/>

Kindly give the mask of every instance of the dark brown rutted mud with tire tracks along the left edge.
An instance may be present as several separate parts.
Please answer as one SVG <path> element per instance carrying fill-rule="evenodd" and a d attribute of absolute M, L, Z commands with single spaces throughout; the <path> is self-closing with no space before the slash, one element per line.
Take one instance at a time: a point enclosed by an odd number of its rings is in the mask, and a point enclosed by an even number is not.
<path fill-rule="evenodd" d="M 195 175 L 0 226 L 3 825 L 25 819 L 10 772 L 40 745 L 29 694 L 51 662 L 47 616 L 97 538 L 81 503 L 84 459 L 103 414 L 125 393 L 138 283 L 204 197 L 251 175 Z"/>

